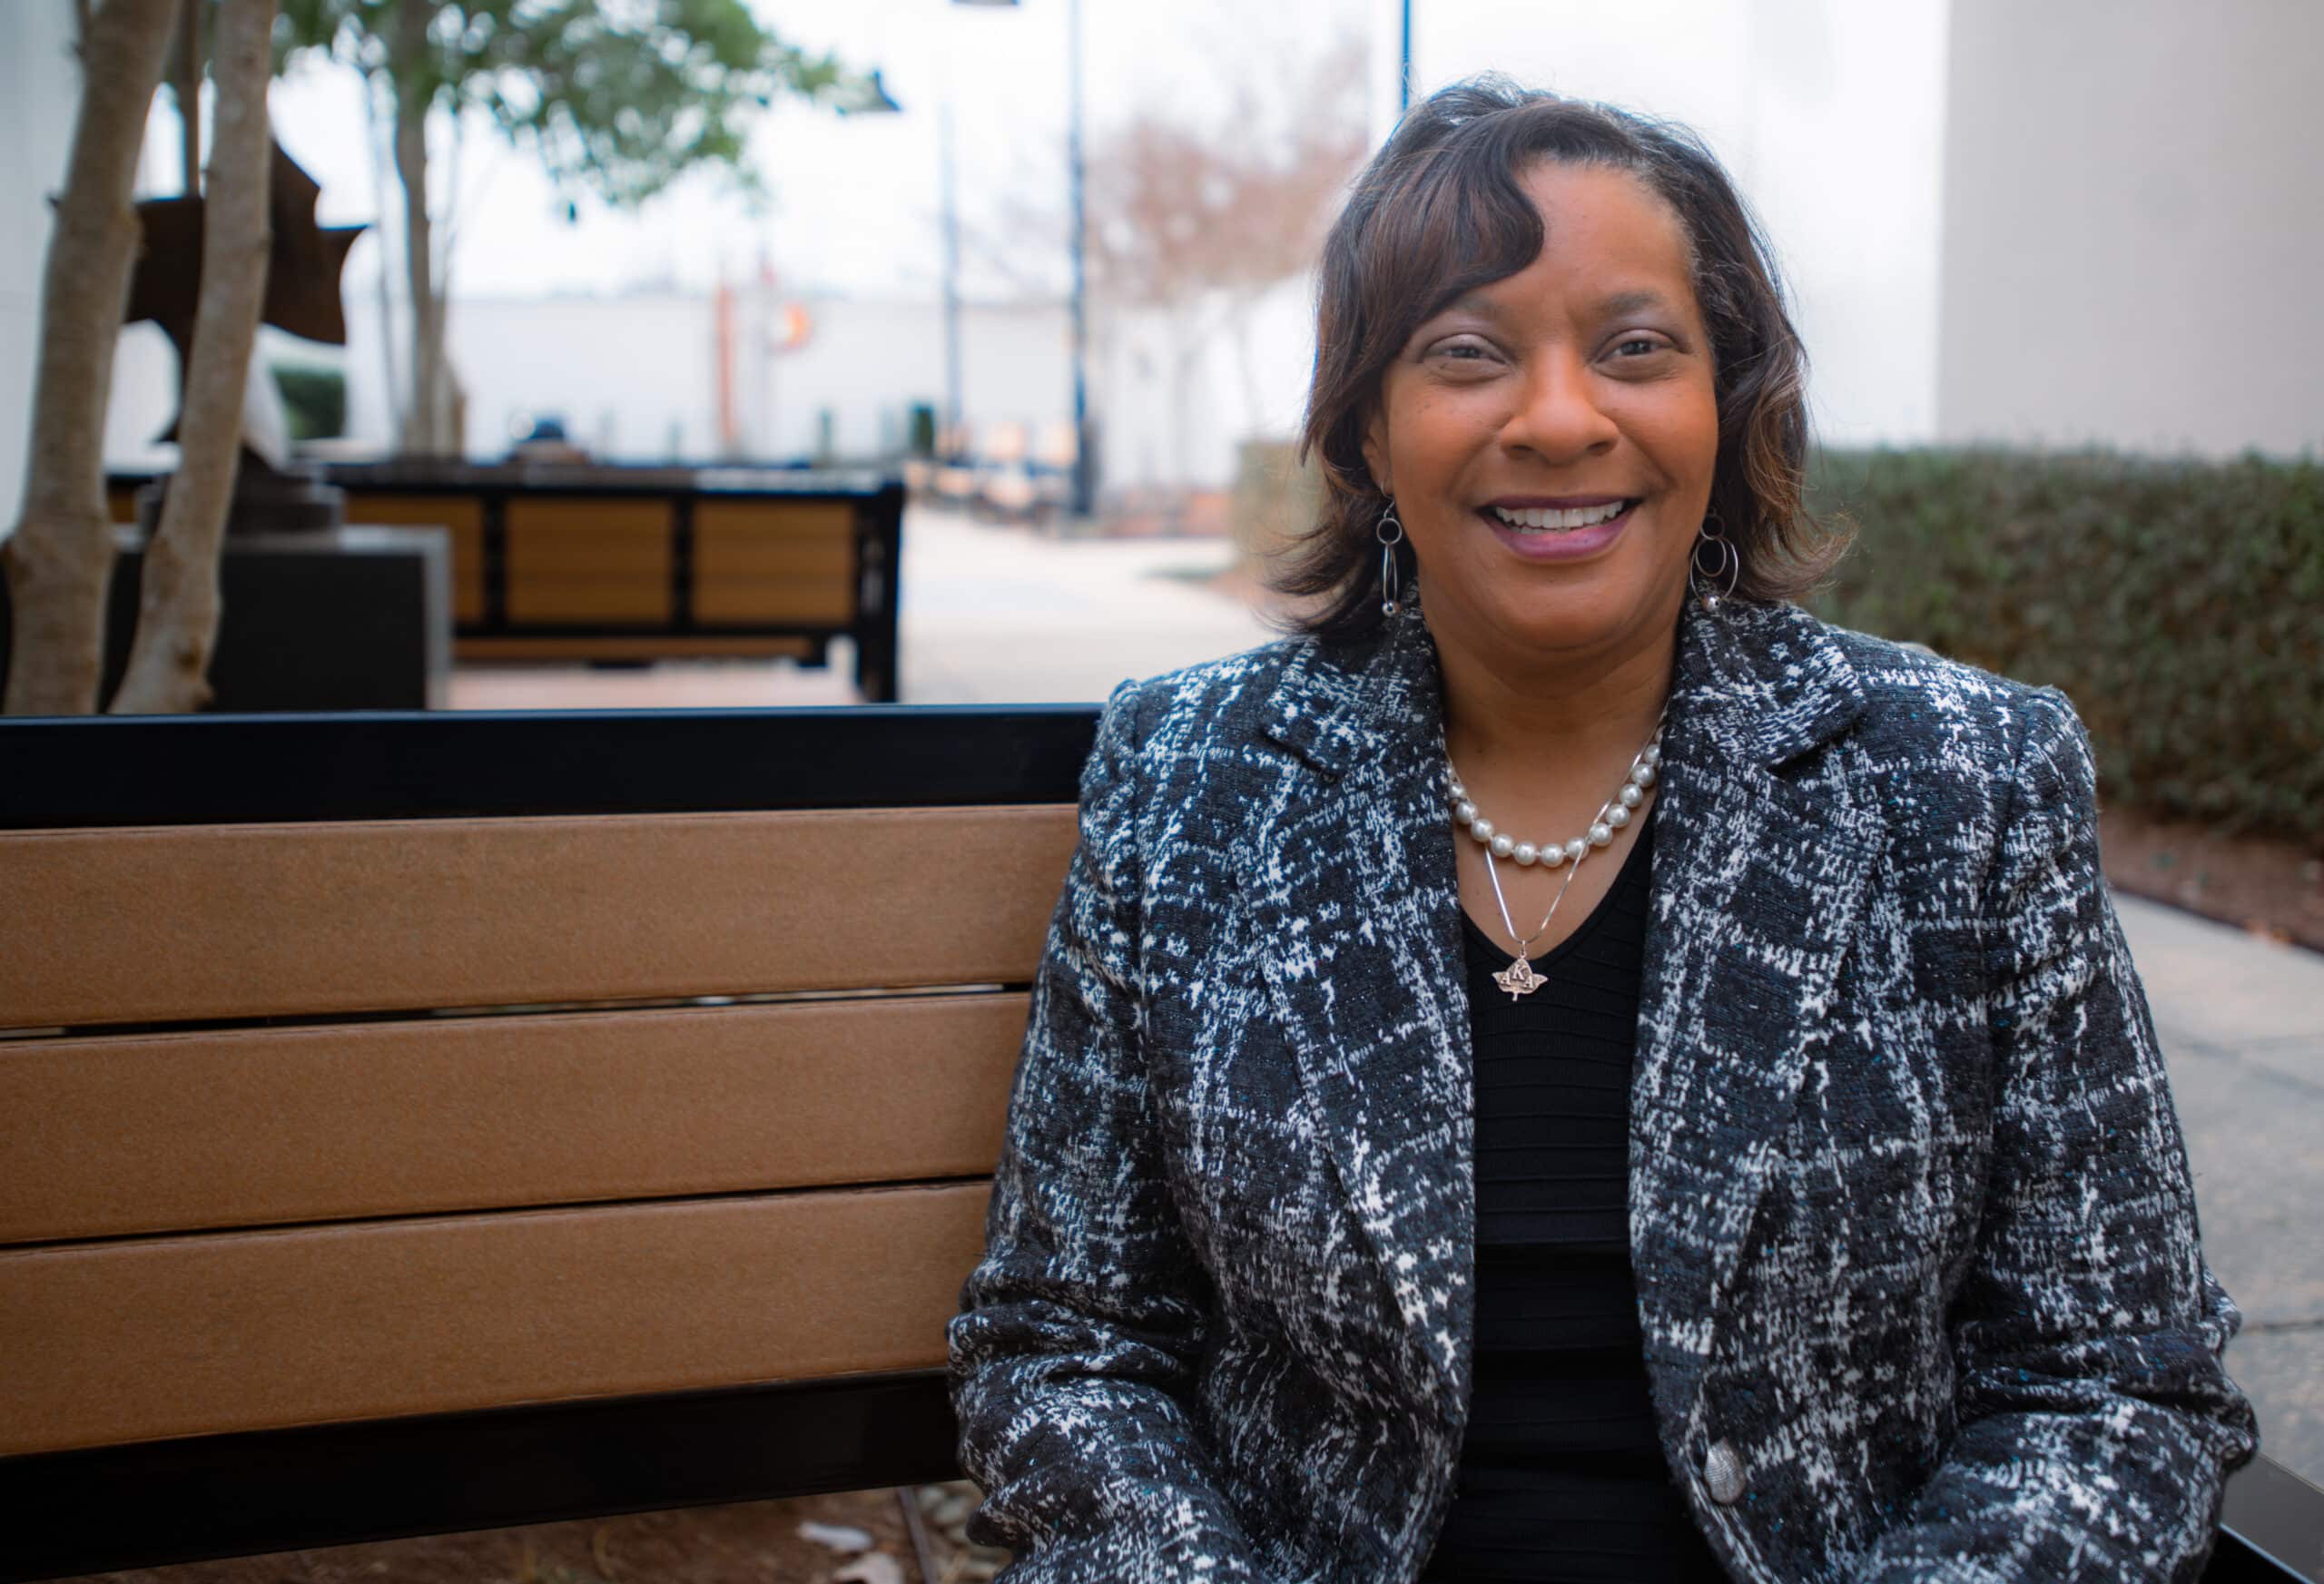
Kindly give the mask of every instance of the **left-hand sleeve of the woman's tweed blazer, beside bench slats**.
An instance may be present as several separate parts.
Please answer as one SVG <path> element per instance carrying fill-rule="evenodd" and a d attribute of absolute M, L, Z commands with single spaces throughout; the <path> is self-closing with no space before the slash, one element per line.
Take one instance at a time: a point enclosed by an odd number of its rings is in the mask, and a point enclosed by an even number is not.
<path fill-rule="evenodd" d="M 1208 1277 L 1139 1045 L 1139 727 L 1116 690 L 1032 989 L 985 1257 L 948 1326 L 969 1538 L 1009 1584 L 1262 1579 L 1185 1398 Z"/>

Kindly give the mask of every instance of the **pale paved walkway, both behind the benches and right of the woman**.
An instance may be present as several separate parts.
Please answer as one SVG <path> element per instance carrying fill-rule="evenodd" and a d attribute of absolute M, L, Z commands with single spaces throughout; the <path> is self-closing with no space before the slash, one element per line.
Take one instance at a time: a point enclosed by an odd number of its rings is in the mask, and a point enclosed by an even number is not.
<path fill-rule="evenodd" d="M 916 509 L 904 523 L 909 704 L 1104 699 L 1125 676 L 1274 632 L 1204 585 L 1218 539 L 1055 541 Z M 848 704 L 846 667 L 462 671 L 458 708 Z M 2229 1356 L 2268 1452 L 2324 1482 L 2324 957 L 2117 901 L 2194 1161 L 2203 1245 L 2245 1310 Z"/>

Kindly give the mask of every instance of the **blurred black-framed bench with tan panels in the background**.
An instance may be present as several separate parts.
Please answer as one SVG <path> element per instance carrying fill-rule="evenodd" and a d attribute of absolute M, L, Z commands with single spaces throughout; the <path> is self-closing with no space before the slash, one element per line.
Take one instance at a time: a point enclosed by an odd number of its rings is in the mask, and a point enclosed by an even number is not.
<path fill-rule="evenodd" d="M 895 699 L 904 485 L 878 471 L 342 462 L 346 520 L 442 527 L 456 660 L 790 657 L 855 646 Z M 137 520 L 144 474 L 107 478 Z"/>

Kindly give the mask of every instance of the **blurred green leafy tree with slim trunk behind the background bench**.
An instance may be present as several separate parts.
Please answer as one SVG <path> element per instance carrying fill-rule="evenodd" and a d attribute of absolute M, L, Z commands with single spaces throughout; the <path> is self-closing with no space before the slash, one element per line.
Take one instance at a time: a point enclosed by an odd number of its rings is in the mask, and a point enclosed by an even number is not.
<path fill-rule="evenodd" d="M 567 200 L 634 207 L 695 167 L 755 188 L 751 123 L 776 98 L 871 105 L 878 84 L 762 28 L 744 0 L 284 0 L 277 56 L 358 67 L 393 128 L 402 186 L 409 381 L 400 448 L 456 453 L 444 355 L 451 214 L 428 209 L 430 128 L 483 114 L 539 156 Z"/>

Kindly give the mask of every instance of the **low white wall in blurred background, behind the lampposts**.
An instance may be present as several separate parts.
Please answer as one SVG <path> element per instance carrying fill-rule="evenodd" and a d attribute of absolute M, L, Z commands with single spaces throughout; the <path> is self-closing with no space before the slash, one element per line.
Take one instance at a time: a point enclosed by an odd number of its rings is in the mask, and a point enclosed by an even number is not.
<path fill-rule="evenodd" d="M 839 455 L 902 446 L 906 413 L 944 404 L 937 302 L 806 300 L 813 334 L 797 351 L 755 353 L 772 321 L 737 300 L 734 402 L 746 455 L 811 455 L 832 413 Z M 393 402 L 379 348 L 379 302 L 349 293 L 349 430 L 386 448 Z M 1234 325 L 1188 339 L 1188 318 L 1095 314 L 1090 411 L 1104 481 L 1227 485 L 1236 446 L 1299 427 L 1313 358 L 1311 283 L 1285 281 Z M 962 411 L 971 427 L 1016 423 L 1039 437 L 1074 411 L 1069 318 L 1060 302 L 969 304 L 960 334 Z M 709 295 L 469 297 L 453 304 L 451 353 L 467 386 L 467 451 L 493 458 L 535 418 L 614 460 L 718 455 L 716 309 Z M 321 353 L 330 355 L 330 353 Z M 397 351 L 397 365 L 402 353 Z M 1183 362 L 1183 376 L 1181 376 Z M 116 451 L 128 458 L 167 416 L 167 348 L 146 367 L 123 353 Z"/>

